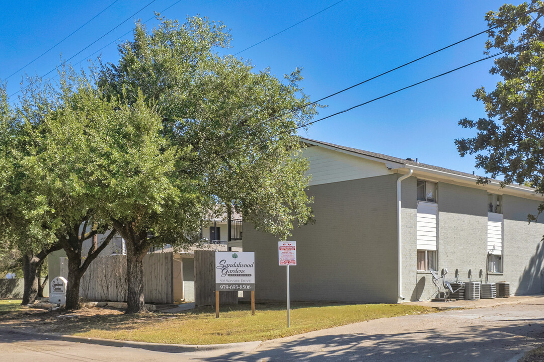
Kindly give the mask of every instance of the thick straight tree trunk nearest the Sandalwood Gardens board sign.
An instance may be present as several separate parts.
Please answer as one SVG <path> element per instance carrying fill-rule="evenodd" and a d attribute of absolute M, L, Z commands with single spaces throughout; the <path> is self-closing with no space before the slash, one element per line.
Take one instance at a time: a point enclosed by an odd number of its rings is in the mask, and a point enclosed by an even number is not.
<path fill-rule="evenodd" d="M 144 304 L 144 257 L 127 247 L 127 314 L 146 313 Z"/>

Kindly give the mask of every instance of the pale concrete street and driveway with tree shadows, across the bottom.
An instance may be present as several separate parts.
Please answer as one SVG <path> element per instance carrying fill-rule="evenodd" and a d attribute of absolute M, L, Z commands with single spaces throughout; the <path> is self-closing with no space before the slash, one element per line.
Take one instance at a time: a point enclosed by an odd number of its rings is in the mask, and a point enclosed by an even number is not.
<path fill-rule="evenodd" d="M 264 342 L 251 351 L 186 353 L 0 335 L 7 361 L 516 361 L 544 343 L 544 298 L 519 304 L 407 315 Z"/>

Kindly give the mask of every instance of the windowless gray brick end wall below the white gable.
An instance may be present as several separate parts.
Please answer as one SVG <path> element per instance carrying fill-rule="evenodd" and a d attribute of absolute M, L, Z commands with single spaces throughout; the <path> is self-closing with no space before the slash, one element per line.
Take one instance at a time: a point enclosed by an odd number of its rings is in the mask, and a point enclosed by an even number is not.
<path fill-rule="evenodd" d="M 397 302 L 397 177 L 310 187 L 316 223 L 288 238 L 296 241 L 298 259 L 289 269 L 292 300 Z M 256 299 L 286 299 L 278 241 L 244 225 L 244 251 L 255 252 Z"/>

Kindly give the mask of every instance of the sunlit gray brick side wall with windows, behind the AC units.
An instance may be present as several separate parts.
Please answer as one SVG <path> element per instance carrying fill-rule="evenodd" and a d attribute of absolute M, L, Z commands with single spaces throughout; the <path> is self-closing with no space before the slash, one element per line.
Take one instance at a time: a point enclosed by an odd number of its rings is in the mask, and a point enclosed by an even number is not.
<path fill-rule="evenodd" d="M 403 294 L 406 300 L 431 298 L 436 288 L 429 273 L 416 271 L 416 178 L 403 181 Z M 489 282 L 510 282 L 510 291 L 540 294 L 544 279 L 544 224 L 527 223 L 527 214 L 535 213 L 539 203 L 530 199 L 503 196 L 503 270 L 489 276 Z M 448 269 L 446 280 L 485 282 L 487 260 L 487 191 L 438 183 L 438 270 Z"/>

